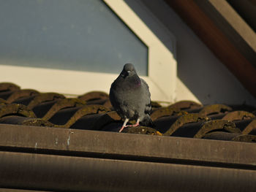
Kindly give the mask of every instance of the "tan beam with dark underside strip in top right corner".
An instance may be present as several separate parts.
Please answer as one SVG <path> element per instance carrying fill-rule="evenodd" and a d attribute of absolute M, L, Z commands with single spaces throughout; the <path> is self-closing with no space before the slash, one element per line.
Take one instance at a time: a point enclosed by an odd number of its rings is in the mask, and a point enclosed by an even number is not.
<path fill-rule="evenodd" d="M 227 1 L 194 0 L 236 49 L 256 67 L 256 34 Z M 243 4 L 243 3 L 241 3 Z"/>

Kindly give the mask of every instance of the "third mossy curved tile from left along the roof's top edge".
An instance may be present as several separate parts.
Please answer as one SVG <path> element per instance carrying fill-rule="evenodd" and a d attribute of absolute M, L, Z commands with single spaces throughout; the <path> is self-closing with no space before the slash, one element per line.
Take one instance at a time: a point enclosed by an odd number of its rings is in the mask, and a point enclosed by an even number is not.
<path fill-rule="evenodd" d="M 34 99 L 29 102 L 28 107 L 32 110 L 34 107 L 36 107 L 38 104 L 41 104 L 42 102 L 55 101 L 59 99 L 65 99 L 65 96 L 59 93 L 39 93 L 37 96 L 34 96 Z"/>

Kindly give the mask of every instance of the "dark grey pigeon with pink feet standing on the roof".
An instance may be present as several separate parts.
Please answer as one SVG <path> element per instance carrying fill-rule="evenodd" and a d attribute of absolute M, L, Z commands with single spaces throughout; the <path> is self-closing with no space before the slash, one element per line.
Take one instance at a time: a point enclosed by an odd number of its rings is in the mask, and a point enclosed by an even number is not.
<path fill-rule="evenodd" d="M 121 74 L 114 80 L 110 88 L 110 102 L 124 120 L 121 132 L 129 120 L 136 120 L 131 126 L 153 126 L 150 118 L 151 99 L 148 84 L 138 77 L 132 64 L 125 64 Z"/>

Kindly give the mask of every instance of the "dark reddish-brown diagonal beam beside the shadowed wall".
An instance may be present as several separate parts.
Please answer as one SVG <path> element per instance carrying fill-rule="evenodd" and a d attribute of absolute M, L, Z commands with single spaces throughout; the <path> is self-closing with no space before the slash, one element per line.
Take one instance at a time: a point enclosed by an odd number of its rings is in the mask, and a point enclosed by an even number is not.
<path fill-rule="evenodd" d="M 256 68 L 192 0 L 165 0 L 244 87 L 256 97 Z M 256 61 L 255 61 L 256 62 Z"/>

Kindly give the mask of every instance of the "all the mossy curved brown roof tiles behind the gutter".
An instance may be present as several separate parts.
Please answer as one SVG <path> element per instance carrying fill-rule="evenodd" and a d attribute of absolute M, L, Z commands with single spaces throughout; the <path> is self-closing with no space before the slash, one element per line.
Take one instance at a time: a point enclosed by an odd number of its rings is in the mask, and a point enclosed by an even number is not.
<path fill-rule="evenodd" d="M 0 123 L 97 131 L 118 131 L 122 123 L 108 94 L 101 91 L 71 99 L 59 93 L 23 90 L 7 82 L 0 83 L 0 90 Z M 194 101 L 178 101 L 168 107 L 155 101 L 152 104 L 151 119 L 156 127 L 126 128 L 125 133 L 204 139 L 222 139 L 225 135 L 225 139 L 233 141 L 254 142 L 238 139 L 249 137 L 231 137 L 231 134 L 255 134 L 255 115 L 251 112 L 233 110 L 225 104 L 203 106 Z"/>

